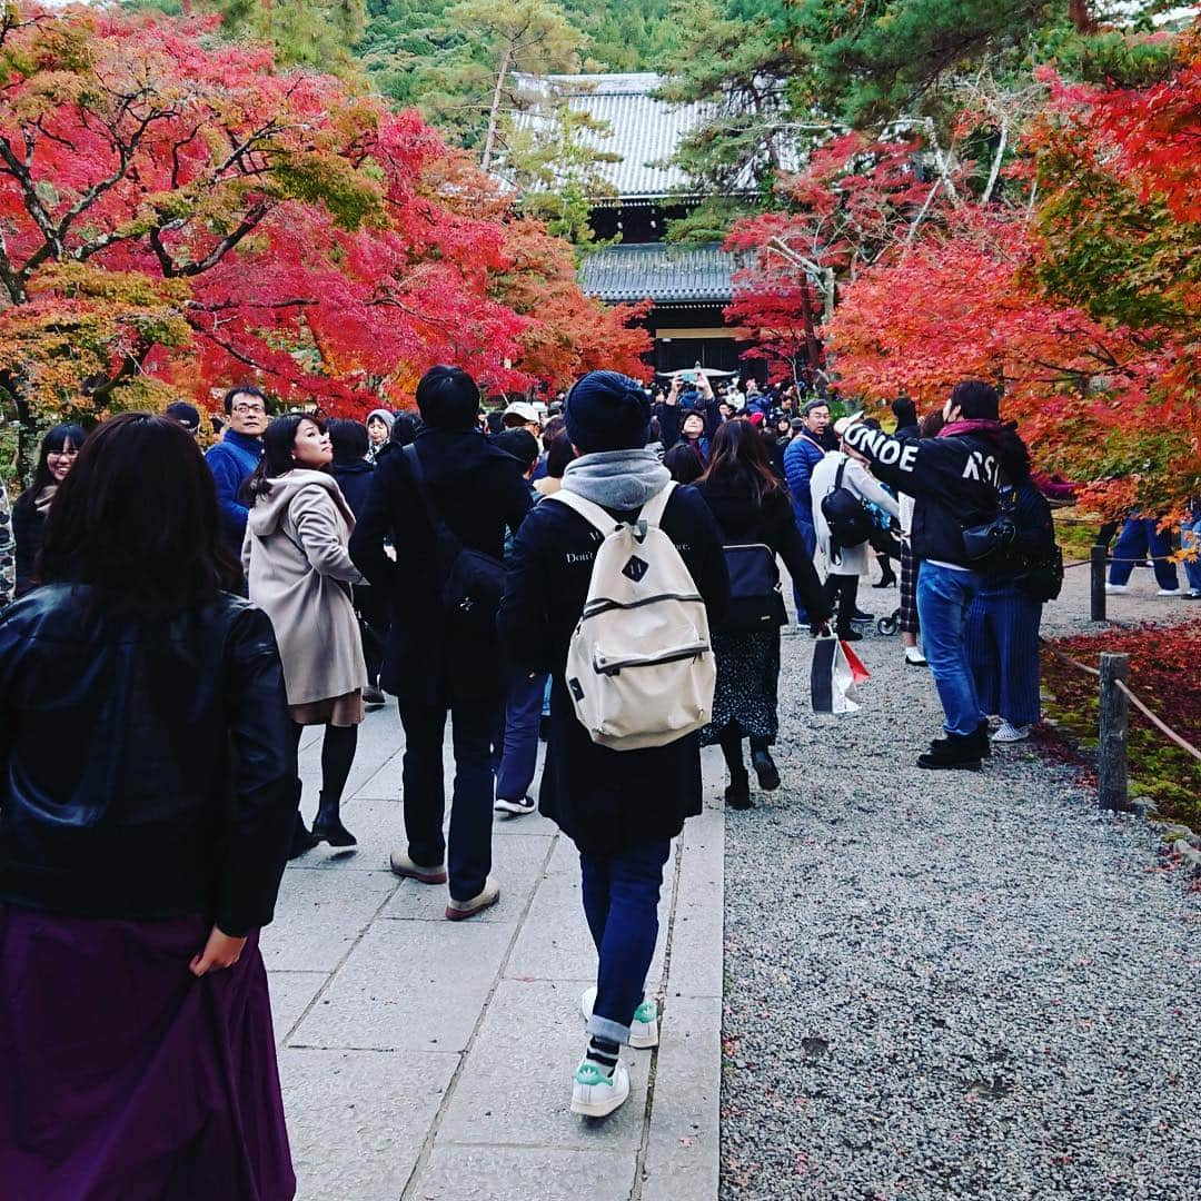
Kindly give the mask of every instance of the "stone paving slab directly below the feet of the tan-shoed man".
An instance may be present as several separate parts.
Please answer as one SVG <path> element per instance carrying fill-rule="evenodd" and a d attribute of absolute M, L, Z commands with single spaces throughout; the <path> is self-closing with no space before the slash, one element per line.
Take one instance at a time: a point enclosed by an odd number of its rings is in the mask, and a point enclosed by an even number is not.
<path fill-rule="evenodd" d="M 292 1045 L 462 1051 L 513 931 L 479 921 L 376 922 L 297 1027 Z"/>

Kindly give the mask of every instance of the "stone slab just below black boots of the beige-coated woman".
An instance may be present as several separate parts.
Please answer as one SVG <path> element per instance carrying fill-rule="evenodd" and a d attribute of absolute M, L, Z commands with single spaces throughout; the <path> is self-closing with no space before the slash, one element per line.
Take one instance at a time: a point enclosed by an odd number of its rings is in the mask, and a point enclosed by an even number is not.
<path fill-rule="evenodd" d="M 262 950 L 274 972 L 333 972 L 399 882 L 392 873 L 283 873 Z"/>

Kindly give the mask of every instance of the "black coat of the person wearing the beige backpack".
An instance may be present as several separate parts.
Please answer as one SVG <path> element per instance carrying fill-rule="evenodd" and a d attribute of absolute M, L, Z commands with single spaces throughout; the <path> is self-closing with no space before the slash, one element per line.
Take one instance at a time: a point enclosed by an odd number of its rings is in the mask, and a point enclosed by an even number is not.
<path fill-rule="evenodd" d="M 634 513 L 614 513 L 631 520 Z M 705 600 L 710 622 L 729 604 L 722 540 L 693 488 L 677 488 L 663 514 Z M 613 751 L 594 743 L 575 717 L 563 683 L 567 647 L 580 619 L 600 534 L 573 509 L 543 501 L 513 550 L 500 631 L 512 659 L 550 671 L 550 739 L 539 807 L 581 849 L 593 854 L 674 838 L 700 812 L 700 742 L 695 734 L 665 747 Z"/>

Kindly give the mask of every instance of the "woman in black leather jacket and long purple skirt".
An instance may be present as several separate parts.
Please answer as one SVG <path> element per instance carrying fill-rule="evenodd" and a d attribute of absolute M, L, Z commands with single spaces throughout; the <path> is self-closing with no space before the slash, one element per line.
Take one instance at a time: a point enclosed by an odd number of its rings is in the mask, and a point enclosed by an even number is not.
<path fill-rule="evenodd" d="M 258 930 L 295 755 L 187 431 L 101 425 L 41 574 L 0 616 L 0 1191 L 286 1201 Z"/>

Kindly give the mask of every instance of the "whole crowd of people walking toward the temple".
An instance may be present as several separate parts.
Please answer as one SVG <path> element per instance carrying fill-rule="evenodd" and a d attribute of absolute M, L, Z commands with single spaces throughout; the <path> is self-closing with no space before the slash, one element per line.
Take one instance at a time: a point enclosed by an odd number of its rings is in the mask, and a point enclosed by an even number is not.
<path fill-rule="evenodd" d="M 0 615 L 0 952 L 29 981 L 0 994 L 13 1195 L 292 1196 L 257 937 L 288 858 L 354 846 L 342 794 L 365 710 L 389 694 L 392 870 L 446 886 L 447 919 L 501 898 L 494 812 L 538 808 L 579 850 L 598 969 L 570 1109 L 588 1117 L 629 1095 L 622 1044 L 658 1042 L 646 974 L 670 843 L 701 808 L 700 748 L 721 748 L 731 809 L 753 803 L 752 773 L 781 787 L 781 562 L 797 620 L 841 640 L 868 617 L 873 555 L 885 587 L 900 563 L 904 659 L 945 718 L 920 767 L 978 770 L 1038 721 L 1053 525 L 991 386 L 966 381 L 920 420 L 902 398 L 891 434 L 703 372 L 652 394 L 597 371 L 549 410 L 485 412 L 471 376 L 438 366 L 416 400 L 365 423 L 271 418 L 235 387 L 203 455 L 185 402 L 58 425 L 13 506 L 14 555 L 0 508 L 0 573 L 22 598 Z M 628 588 L 609 596 L 596 573 L 622 532 Z M 663 572 L 683 582 L 655 593 Z M 693 614 L 679 653 L 657 643 L 663 605 Z M 597 645 L 569 667 L 602 615 L 637 629 L 638 653 Z M 653 679 L 701 663 L 679 736 L 622 743 L 585 723 L 590 689 L 651 681 L 650 711 Z M 311 821 L 306 727 L 322 730 Z"/>

